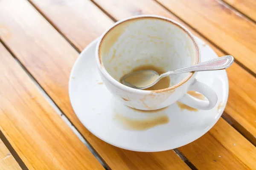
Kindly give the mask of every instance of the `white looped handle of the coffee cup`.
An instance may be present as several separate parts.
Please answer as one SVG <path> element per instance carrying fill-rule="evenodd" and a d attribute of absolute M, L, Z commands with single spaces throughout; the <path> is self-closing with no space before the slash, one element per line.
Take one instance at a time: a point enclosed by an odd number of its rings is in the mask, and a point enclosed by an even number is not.
<path fill-rule="evenodd" d="M 189 94 L 185 94 L 181 99 L 179 99 L 179 102 L 182 102 L 183 104 L 192 108 L 201 110 L 210 110 L 217 103 L 218 96 L 215 91 L 213 91 L 209 85 L 199 82 L 197 79 L 195 79 L 195 81 L 189 86 L 188 91 L 197 91 L 203 94 L 209 100 L 209 102 L 197 99 Z"/>

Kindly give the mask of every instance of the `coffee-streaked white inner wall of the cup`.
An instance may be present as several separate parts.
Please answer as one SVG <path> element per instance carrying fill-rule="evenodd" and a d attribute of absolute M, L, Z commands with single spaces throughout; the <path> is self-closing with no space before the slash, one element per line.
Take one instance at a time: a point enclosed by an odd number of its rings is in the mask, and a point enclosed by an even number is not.
<path fill-rule="evenodd" d="M 175 23 L 154 17 L 126 20 L 111 28 L 99 47 L 101 63 L 114 79 L 140 65 L 154 65 L 165 71 L 198 62 L 196 46 L 189 34 Z M 189 73 L 174 74 L 170 86 Z"/>

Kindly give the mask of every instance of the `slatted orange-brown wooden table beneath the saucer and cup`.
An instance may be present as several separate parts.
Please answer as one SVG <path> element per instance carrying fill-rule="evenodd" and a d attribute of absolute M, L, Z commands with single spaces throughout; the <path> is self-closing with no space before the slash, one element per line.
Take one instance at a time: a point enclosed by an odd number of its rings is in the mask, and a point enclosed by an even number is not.
<path fill-rule="evenodd" d="M 68 78 L 81 50 L 139 14 L 176 20 L 236 59 L 221 119 L 175 150 L 114 147 L 70 105 Z M 0 138 L 0 170 L 256 170 L 256 1 L 0 0 Z"/>

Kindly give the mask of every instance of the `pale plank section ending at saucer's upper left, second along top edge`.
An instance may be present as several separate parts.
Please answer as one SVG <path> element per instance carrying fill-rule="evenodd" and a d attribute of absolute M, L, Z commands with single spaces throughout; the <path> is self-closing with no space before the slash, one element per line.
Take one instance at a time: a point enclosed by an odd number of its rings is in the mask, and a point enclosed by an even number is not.
<path fill-rule="evenodd" d="M 80 51 L 113 24 L 113 21 L 106 17 L 90 0 L 30 1 L 39 10 L 44 8 L 43 14 Z M 73 16 L 76 16 L 76 20 L 73 19 Z M 72 30 L 69 29 L 70 27 Z"/>

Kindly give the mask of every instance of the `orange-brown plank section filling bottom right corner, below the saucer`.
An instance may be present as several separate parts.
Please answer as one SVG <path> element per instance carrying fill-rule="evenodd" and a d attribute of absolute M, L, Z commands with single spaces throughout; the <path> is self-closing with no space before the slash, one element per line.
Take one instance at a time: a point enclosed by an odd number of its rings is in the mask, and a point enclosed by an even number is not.
<path fill-rule="evenodd" d="M 256 148 L 222 118 L 204 136 L 178 150 L 202 170 L 255 169 Z"/>

